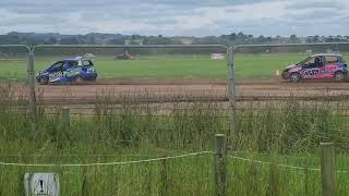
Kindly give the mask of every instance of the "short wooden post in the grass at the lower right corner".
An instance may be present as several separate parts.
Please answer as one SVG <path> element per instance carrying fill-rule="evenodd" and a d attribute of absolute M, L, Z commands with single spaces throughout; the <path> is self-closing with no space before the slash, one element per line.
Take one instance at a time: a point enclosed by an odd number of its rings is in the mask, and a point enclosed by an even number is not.
<path fill-rule="evenodd" d="M 333 196 L 336 194 L 334 144 L 320 143 L 320 146 L 322 195 Z"/>

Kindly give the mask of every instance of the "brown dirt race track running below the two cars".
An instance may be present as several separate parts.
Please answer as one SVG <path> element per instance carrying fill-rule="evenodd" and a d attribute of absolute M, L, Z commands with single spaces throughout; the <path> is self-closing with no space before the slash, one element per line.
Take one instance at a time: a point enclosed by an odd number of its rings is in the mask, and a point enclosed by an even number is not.
<path fill-rule="evenodd" d="M 153 101 L 173 100 L 228 100 L 226 85 L 48 85 L 37 86 L 39 100 L 47 103 L 93 103 L 97 98 L 113 100 L 135 99 Z M 16 85 L 17 96 L 26 95 L 26 88 Z M 348 99 L 349 83 L 280 83 L 245 82 L 237 85 L 238 100 L 312 100 L 324 97 Z"/>

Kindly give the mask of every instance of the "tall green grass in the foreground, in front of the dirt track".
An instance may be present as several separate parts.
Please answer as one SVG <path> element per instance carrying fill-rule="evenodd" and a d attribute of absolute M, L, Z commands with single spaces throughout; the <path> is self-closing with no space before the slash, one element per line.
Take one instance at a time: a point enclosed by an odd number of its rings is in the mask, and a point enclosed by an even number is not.
<path fill-rule="evenodd" d="M 59 173 L 62 195 L 213 195 L 212 154 L 170 159 L 167 167 L 163 161 L 75 168 L 59 164 L 213 150 L 216 133 L 227 135 L 229 155 L 272 163 L 228 158 L 228 195 L 320 195 L 318 171 L 276 166 L 318 168 L 320 142 L 334 142 L 336 169 L 349 170 L 349 121 L 337 115 L 342 103 L 270 103 L 263 110 L 239 110 L 229 121 L 229 113 L 216 102 L 184 107 L 174 102 L 168 114 L 159 115 L 151 106 L 140 109 L 128 97 L 116 105 L 106 96 L 95 105 L 93 115 L 73 115 L 70 125 L 63 124 L 59 114 L 38 108 L 38 126 L 33 131 L 26 111 L 11 107 L 10 88 L 0 94 L 1 161 L 58 166 L 1 166 L 0 195 L 21 195 L 24 173 L 44 171 Z M 347 195 L 346 173 L 337 173 L 337 184 L 338 195 Z"/>

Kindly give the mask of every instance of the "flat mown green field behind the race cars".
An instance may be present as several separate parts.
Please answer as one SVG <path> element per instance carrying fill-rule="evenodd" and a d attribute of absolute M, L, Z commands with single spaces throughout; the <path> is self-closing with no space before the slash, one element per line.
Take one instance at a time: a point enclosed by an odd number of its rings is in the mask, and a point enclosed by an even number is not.
<path fill-rule="evenodd" d="M 69 57 L 67 57 L 69 58 Z M 241 56 L 236 57 L 238 79 L 269 78 L 276 69 L 300 62 L 302 54 L 277 56 Z M 43 70 L 61 60 L 61 57 L 36 58 L 36 71 Z M 349 56 L 345 56 L 349 59 Z M 96 58 L 94 63 L 99 78 L 105 79 L 225 79 L 227 78 L 226 60 L 210 60 L 209 58 L 158 58 L 144 60 L 113 60 L 111 57 Z M 26 61 L 0 60 L 0 78 L 26 78 Z"/>

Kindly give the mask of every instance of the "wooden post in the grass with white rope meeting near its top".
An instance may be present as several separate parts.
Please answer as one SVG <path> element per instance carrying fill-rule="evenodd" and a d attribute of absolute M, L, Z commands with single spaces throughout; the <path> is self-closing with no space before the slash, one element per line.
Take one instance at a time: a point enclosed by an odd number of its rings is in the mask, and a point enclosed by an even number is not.
<path fill-rule="evenodd" d="M 225 134 L 215 139 L 215 195 L 227 195 L 227 142 Z"/>

